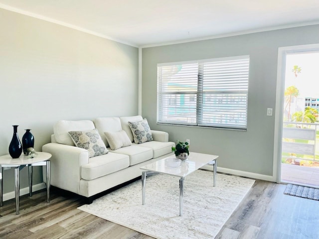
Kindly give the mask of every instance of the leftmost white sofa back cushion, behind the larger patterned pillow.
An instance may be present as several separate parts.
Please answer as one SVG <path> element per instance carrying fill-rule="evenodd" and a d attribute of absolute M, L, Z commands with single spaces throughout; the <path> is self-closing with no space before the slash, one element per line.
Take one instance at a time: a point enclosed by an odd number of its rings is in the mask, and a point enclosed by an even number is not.
<path fill-rule="evenodd" d="M 92 120 L 59 120 L 53 126 L 54 138 L 57 143 L 75 146 L 69 131 L 86 131 L 94 128 Z"/>

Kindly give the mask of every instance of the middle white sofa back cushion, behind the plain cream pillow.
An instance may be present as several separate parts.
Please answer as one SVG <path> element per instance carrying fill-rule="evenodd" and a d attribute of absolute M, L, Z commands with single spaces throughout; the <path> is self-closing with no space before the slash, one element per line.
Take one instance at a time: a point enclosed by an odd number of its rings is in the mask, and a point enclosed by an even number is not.
<path fill-rule="evenodd" d="M 109 147 L 104 132 L 117 132 L 122 130 L 121 121 L 118 117 L 100 117 L 94 119 L 96 129 L 99 131 L 105 145 Z"/>

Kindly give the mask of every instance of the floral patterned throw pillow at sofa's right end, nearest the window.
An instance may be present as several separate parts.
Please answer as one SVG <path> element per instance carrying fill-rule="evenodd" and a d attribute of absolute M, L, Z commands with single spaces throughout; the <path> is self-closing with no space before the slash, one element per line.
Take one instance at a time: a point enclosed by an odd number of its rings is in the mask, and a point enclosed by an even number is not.
<path fill-rule="evenodd" d="M 153 140 L 151 128 L 147 119 L 128 123 L 132 130 L 135 143 L 144 143 Z"/>

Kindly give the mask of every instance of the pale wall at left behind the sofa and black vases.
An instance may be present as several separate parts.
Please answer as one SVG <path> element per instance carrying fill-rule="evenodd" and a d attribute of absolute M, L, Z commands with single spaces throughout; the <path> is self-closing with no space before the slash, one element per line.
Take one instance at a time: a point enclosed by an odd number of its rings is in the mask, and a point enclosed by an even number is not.
<path fill-rule="evenodd" d="M 20 139 L 31 128 L 41 151 L 59 119 L 138 114 L 138 48 L 4 9 L 0 22 L 0 155 L 13 124 Z M 4 193 L 14 190 L 13 173 L 3 172 Z M 40 174 L 35 167 L 33 184 Z"/>

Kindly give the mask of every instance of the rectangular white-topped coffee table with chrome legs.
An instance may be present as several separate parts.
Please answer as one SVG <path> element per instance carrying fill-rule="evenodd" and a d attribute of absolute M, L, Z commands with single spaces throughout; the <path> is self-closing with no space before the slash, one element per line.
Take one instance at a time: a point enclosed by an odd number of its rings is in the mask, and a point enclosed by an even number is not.
<path fill-rule="evenodd" d="M 205 165 L 214 166 L 214 187 L 216 185 L 217 155 L 190 152 L 185 161 L 176 160 L 175 156 L 160 159 L 141 167 L 142 170 L 142 204 L 145 205 L 146 176 L 154 173 L 163 173 L 179 177 L 179 216 L 183 215 L 184 178 Z"/>

